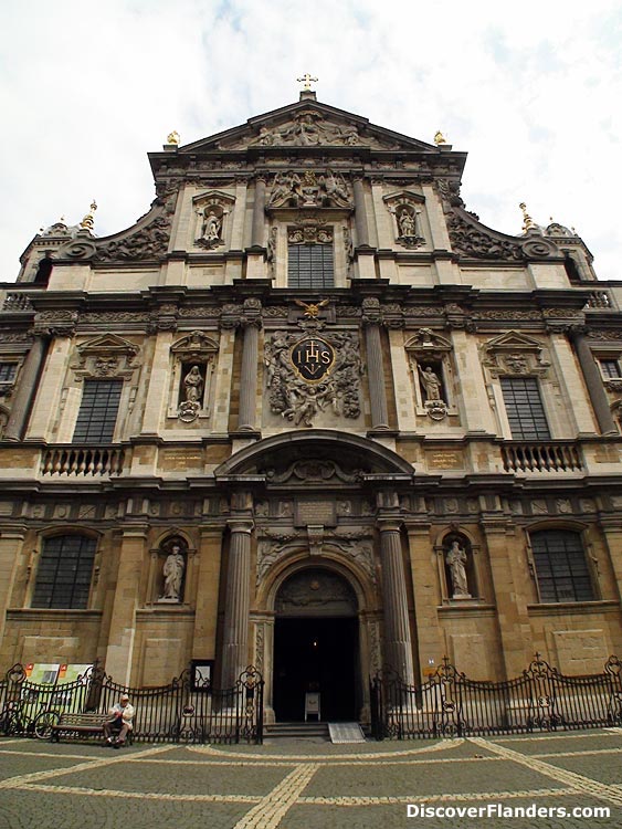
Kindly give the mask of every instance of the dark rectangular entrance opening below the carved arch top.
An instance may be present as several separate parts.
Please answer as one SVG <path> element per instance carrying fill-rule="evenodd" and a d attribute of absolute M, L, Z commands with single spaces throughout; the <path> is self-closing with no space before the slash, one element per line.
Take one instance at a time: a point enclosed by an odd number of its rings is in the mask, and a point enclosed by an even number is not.
<path fill-rule="evenodd" d="M 276 619 L 274 713 L 280 722 L 305 716 L 305 693 L 319 691 L 321 720 L 358 720 L 356 676 L 358 619 Z M 315 717 L 314 717 L 315 720 Z"/>

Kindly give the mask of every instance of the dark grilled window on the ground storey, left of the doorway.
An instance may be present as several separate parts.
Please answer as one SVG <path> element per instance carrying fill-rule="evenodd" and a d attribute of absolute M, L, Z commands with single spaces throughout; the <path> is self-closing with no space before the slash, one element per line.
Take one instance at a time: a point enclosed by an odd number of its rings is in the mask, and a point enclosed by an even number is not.
<path fill-rule="evenodd" d="M 88 604 L 96 542 L 84 535 L 45 538 L 32 607 L 81 610 Z"/>

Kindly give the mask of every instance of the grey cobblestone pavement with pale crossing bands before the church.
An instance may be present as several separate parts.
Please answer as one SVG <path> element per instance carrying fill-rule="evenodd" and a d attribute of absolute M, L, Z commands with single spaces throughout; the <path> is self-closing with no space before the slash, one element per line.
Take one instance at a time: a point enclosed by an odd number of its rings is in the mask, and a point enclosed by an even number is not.
<path fill-rule="evenodd" d="M 120 752 L 6 738 L 0 829 L 612 828 L 622 827 L 621 760 L 621 728 Z M 444 816 L 432 816 L 439 807 Z M 524 816 L 510 815 L 517 807 Z"/>

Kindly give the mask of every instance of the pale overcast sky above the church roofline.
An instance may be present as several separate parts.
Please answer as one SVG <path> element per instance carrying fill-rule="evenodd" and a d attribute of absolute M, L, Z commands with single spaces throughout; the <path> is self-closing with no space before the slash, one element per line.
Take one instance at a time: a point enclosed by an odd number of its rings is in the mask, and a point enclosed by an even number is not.
<path fill-rule="evenodd" d="M 622 279 L 622 3 L 22 0 L 0 32 L 0 281 L 41 227 L 146 212 L 146 154 L 298 99 L 468 153 L 463 198 L 496 230 L 574 227 Z"/>

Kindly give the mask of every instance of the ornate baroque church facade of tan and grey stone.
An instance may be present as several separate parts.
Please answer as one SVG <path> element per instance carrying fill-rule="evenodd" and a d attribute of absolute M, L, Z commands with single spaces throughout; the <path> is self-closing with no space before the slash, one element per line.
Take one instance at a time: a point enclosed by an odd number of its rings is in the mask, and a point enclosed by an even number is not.
<path fill-rule="evenodd" d="M 484 225 L 466 154 L 299 101 L 150 153 L 136 224 L 0 286 L 0 670 L 369 678 L 622 654 L 622 283 Z M 93 209 L 95 206 L 92 206 Z"/>

